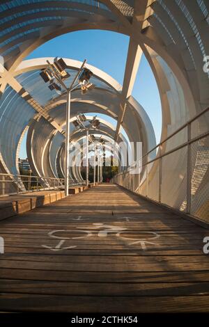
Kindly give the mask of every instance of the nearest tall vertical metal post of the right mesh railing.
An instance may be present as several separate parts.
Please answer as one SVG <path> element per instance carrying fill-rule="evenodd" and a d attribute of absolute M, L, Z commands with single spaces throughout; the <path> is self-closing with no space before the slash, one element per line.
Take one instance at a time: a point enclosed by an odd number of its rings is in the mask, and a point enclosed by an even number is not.
<path fill-rule="evenodd" d="M 187 142 L 191 141 L 191 123 L 187 125 Z M 191 143 L 187 144 L 187 214 L 191 212 L 191 189 L 192 189 L 192 153 Z"/>

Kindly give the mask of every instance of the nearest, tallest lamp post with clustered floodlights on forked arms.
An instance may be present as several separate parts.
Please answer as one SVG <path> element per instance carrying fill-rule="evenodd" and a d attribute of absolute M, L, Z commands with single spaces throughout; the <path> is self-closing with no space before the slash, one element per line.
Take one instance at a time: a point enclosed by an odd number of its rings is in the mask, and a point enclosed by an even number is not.
<path fill-rule="evenodd" d="M 73 79 L 70 86 L 66 86 L 64 81 L 70 77 L 70 74 L 65 71 L 68 67 L 63 61 L 63 58 L 54 58 L 54 63 L 49 63 L 47 61 L 47 68 L 40 72 L 40 76 L 45 81 L 49 82 L 49 90 L 56 90 L 57 93 L 61 94 L 61 90 L 66 91 L 67 95 L 67 105 L 66 105 L 66 136 L 65 136 L 65 196 L 68 196 L 69 188 L 69 142 L 70 142 L 70 97 L 71 91 L 75 90 L 78 86 L 82 88 L 82 94 L 86 93 L 89 88 L 93 87 L 93 84 L 90 85 L 89 79 L 93 75 L 91 70 L 84 67 L 86 59 L 82 63 L 82 66 L 79 68 L 75 78 Z M 75 85 L 78 79 L 78 83 Z M 84 92 L 83 92 L 84 91 Z"/>

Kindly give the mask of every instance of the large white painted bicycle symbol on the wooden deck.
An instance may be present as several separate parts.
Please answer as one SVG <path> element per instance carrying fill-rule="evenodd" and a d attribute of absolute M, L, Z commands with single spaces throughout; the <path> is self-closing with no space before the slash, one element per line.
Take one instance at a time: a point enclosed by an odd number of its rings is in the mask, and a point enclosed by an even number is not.
<path fill-rule="evenodd" d="M 123 228 L 120 226 L 116 225 L 106 225 L 104 223 L 93 223 L 91 226 L 88 226 L 86 228 L 79 228 L 77 227 L 76 230 L 52 230 L 51 232 L 48 233 L 49 237 L 52 237 L 54 239 L 59 239 L 59 243 L 56 244 L 55 247 L 53 246 L 47 246 L 47 245 L 42 245 L 43 248 L 48 248 L 52 251 L 59 251 L 59 250 L 68 250 L 70 248 L 77 248 L 76 245 L 72 246 L 67 246 L 63 247 L 63 244 L 65 244 L 65 241 L 67 240 L 75 240 L 75 239 L 86 239 L 90 238 L 93 235 L 95 235 L 95 232 L 97 231 L 97 236 L 98 237 L 108 237 L 109 234 L 114 234 L 116 237 L 120 237 L 121 239 L 124 239 L 127 241 L 127 245 L 132 246 L 132 245 L 140 245 L 142 250 L 146 250 L 147 246 L 153 245 L 156 246 L 158 244 L 154 243 L 154 239 L 158 239 L 160 237 L 160 234 L 157 234 L 156 232 L 144 232 L 146 234 L 150 234 L 150 237 L 145 237 L 145 238 L 133 238 L 133 237 L 127 237 L 125 236 L 125 232 L 127 233 L 127 228 Z M 74 237 L 63 237 L 57 235 L 58 233 L 79 233 L 81 234 L 80 236 L 74 236 Z M 141 232 L 143 233 L 143 232 Z M 152 240 L 152 241 L 151 241 Z"/>

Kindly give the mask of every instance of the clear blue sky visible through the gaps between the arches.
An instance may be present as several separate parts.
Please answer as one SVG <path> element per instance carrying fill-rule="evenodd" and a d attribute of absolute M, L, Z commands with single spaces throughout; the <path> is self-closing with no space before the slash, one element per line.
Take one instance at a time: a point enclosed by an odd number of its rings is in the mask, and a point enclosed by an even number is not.
<path fill-rule="evenodd" d="M 104 70 L 123 84 L 129 38 L 110 31 L 77 31 L 54 38 L 33 51 L 27 58 L 58 56 L 87 62 Z M 162 113 L 155 77 L 142 56 L 132 95 L 148 113 L 157 143 L 160 141 Z M 26 157 L 25 138 L 20 157 Z"/>

